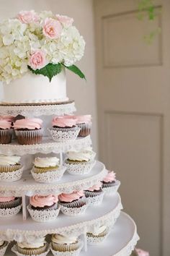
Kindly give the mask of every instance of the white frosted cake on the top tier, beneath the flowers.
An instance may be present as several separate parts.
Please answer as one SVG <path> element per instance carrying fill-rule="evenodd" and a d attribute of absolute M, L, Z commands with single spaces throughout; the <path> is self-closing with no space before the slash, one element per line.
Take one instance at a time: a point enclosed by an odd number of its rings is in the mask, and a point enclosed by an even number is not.
<path fill-rule="evenodd" d="M 52 103 L 68 101 L 66 97 L 66 71 L 48 77 L 27 72 L 23 77 L 2 86 L 4 103 Z"/>

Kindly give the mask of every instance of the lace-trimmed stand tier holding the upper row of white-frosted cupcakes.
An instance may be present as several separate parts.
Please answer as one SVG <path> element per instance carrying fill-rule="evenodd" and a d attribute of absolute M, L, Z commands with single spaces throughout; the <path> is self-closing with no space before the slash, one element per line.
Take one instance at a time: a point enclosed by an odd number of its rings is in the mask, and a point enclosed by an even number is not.
<path fill-rule="evenodd" d="M 71 175 L 67 171 L 63 174 L 61 181 L 44 184 L 37 183 L 32 178 L 30 171 L 24 171 L 22 179 L 17 182 L 0 182 L 0 196 L 32 196 L 35 194 L 48 195 L 61 194 L 62 192 L 71 193 L 81 189 L 88 189 L 101 181 L 106 176 L 107 170 L 103 163 L 97 161 L 91 172 L 85 176 Z M 117 188 L 120 182 L 117 181 Z"/>

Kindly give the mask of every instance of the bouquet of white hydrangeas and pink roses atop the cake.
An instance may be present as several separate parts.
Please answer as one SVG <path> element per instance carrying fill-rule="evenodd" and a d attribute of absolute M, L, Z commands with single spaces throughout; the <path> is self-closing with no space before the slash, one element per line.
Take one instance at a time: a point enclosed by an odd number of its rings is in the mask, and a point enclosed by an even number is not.
<path fill-rule="evenodd" d="M 85 79 L 74 65 L 84 47 L 72 18 L 46 11 L 19 12 L 0 23 L 0 80 L 9 83 L 26 72 L 52 80 L 63 67 Z"/>

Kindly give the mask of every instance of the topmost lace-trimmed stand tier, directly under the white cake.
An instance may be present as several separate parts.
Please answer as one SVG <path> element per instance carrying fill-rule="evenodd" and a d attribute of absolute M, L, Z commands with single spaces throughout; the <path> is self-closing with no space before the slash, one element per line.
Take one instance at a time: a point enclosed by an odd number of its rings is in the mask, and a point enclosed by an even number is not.
<path fill-rule="evenodd" d="M 1 115 L 22 115 L 22 116 L 51 116 L 53 114 L 61 116 L 72 114 L 76 111 L 74 101 L 61 103 L 32 103 L 32 104 L 8 104 L 0 103 Z"/>

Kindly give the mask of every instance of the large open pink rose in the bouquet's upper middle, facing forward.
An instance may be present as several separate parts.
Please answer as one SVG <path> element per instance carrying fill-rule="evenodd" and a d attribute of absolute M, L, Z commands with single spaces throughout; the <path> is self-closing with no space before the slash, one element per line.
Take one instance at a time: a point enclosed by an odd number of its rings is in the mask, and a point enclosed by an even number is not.
<path fill-rule="evenodd" d="M 59 38 L 61 35 L 61 30 L 61 23 L 58 22 L 58 20 L 53 20 L 51 18 L 45 19 L 42 31 L 46 38 Z"/>

